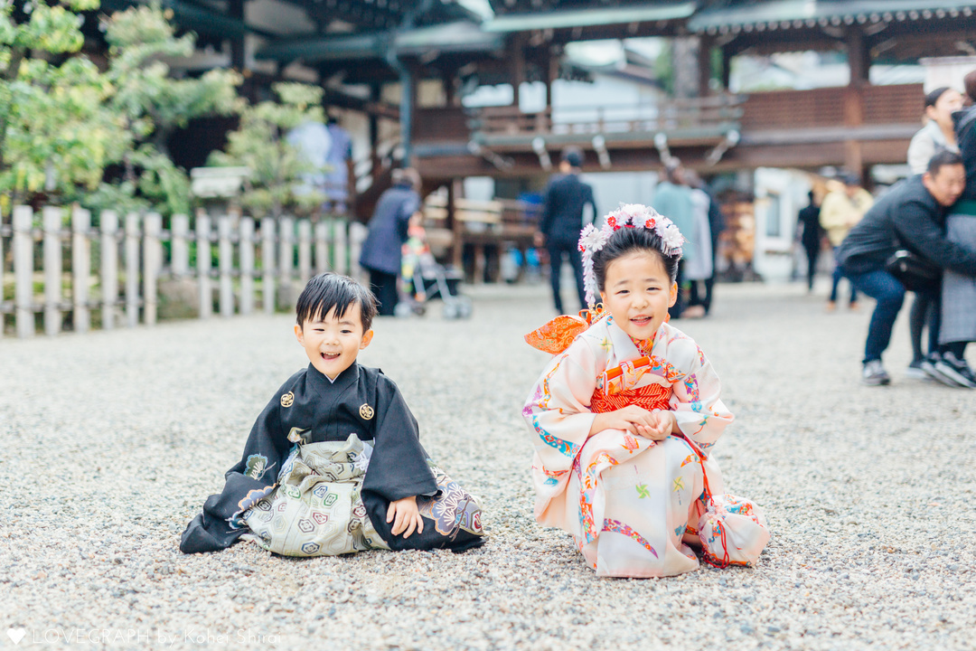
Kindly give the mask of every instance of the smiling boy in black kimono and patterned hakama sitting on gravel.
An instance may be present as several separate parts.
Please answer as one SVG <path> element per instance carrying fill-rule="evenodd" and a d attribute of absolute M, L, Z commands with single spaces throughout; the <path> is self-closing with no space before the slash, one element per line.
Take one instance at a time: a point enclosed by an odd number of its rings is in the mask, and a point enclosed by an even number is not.
<path fill-rule="evenodd" d="M 310 363 L 264 408 L 180 549 L 226 549 L 242 536 L 297 556 L 481 545 L 477 501 L 429 462 L 396 385 L 356 363 L 373 340 L 373 294 L 323 273 L 296 311 Z"/>

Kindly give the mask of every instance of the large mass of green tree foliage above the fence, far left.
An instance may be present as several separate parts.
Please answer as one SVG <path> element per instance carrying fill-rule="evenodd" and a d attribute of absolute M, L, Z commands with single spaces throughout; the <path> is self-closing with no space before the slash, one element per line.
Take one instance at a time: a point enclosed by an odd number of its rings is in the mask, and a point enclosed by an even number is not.
<path fill-rule="evenodd" d="M 176 38 L 158 5 L 105 20 L 104 72 L 84 56 L 49 61 L 45 53 L 80 49 L 74 12 L 98 6 L 32 0 L 18 22 L 13 3 L 0 0 L 0 203 L 43 191 L 93 209 L 188 212 L 189 179 L 170 160 L 167 138 L 194 117 L 240 110 L 240 75 L 174 78 L 164 60 L 190 56 L 194 39 Z M 120 183 L 103 183 L 110 165 L 123 168 Z"/>

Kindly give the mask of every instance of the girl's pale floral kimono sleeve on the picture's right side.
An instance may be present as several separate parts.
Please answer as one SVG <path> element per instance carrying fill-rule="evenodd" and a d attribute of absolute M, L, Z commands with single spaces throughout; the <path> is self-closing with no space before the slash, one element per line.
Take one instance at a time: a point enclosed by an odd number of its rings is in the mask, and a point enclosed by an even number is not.
<path fill-rule="evenodd" d="M 732 413 L 721 401 L 721 383 L 702 349 L 690 339 L 677 344 L 689 347 L 690 370 L 672 385 L 671 410 L 685 436 L 708 450 L 732 422 Z"/>

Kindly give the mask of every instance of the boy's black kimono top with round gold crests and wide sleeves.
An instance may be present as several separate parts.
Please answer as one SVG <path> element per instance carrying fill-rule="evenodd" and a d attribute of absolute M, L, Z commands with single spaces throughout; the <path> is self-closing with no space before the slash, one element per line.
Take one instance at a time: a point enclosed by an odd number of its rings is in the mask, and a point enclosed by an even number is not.
<path fill-rule="evenodd" d="M 435 523 L 427 515 L 424 533 L 414 532 L 408 539 L 392 535 L 392 525 L 386 522 L 391 501 L 434 495 L 447 484 L 438 487 L 420 444 L 417 421 L 396 385 L 379 369 L 353 363 L 335 383 L 309 364 L 278 389 L 252 427 L 241 461 L 227 471 L 224 491 L 211 495 L 203 512 L 187 525 L 180 549 L 193 553 L 230 547 L 249 531 L 241 514 L 271 495 L 282 463 L 299 441 L 345 441 L 350 433 L 373 443 L 362 501 L 390 549 L 460 551 L 483 543 L 460 522 L 445 528 L 444 522 Z"/>

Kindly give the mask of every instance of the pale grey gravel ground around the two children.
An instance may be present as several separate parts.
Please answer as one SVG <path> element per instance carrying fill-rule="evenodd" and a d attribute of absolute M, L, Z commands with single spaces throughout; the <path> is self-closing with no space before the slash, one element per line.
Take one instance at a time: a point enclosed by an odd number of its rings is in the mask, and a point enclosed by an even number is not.
<path fill-rule="evenodd" d="M 521 336 L 546 289 L 474 295 L 468 322 L 380 321 L 361 355 L 481 497 L 491 538 L 464 554 L 177 549 L 305 365 L 288 316 L 0 341 L 0 647 L 974 648 L 976 393 L 903 378 L 904 314 L 895 383 L 863 387 L 870 310 L 719 286 L 679 325 L 737 416 L 715 448 L 727 488 L 765 507 L 772 542 L 755 569 L 597 579 L 531 515 L 519 409 L 547 356 Z"/>

